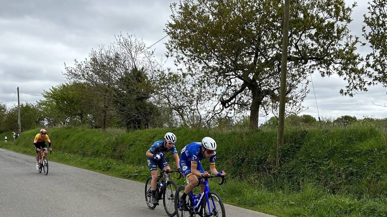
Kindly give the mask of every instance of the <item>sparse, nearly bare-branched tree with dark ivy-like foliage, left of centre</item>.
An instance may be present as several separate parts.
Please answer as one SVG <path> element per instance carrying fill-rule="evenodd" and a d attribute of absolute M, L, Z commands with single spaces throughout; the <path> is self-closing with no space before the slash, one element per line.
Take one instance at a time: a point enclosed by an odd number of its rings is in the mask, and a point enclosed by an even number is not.
<path fill-rule="evenodd" d="M 142 41 L 119 35 L 106 49 L 92 50 L 89 59 L 75 60 L 74 66 L 66 67 L 65 75 L 70 81 L 89 85 L 89 91 L 101 99 L 103 128 L 108 114 L 123 127 L 146 127 L 157 112 L 149 100 L 153 92 L 149 76 L 153 78 L 157 71 L 152 55 Z"/>

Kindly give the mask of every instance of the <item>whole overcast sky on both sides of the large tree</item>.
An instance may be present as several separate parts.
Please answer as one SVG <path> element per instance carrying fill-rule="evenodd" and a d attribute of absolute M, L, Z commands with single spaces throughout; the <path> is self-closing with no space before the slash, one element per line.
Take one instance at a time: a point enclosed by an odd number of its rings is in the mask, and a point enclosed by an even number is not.
<path fill-rule="evenodd" d="M 8 106 L 17 103 L 16 87 L 26 93 L 40 95 L 43 89 L 65 82 L 64 64 L 84 59 L 92 48 L 115 41 L 115 35 L 133 34 L 152 45 L 166 34 L 163 32 L 171 14 L 173 0 L 1 0 L 0 7 L 0 102 Z M 55 3 L 54 3 L 55 2 Z M 346 0 L 351 4 L 354 0 Z M 363 14 L 367 2 L 358 0 L 358 7 L 349 25 L 352 34 L 361 36 Z M 156 58 L 166 51 L 164 42 L 155 49 Z M 363 54 L 368 47 L 361 47 Z M 346 82 L 332 76 L 313 75 L 313 84 L 321 117 L 354 115 L 358 118 L 387 117 L 386 89 L 372 86 L 366 93 L 353 98 L 342 97 L 340 88 Z M 303 103 L 308 110 L 303 114 L 317 117 L 317 107 L 311 91 Z M 43 97 L 21 93 L 21 102 L 36 102 Z M 14 100 L 13 100 L 14 99 Z M 264 121 L 265 118 L 261 118 Z"/>

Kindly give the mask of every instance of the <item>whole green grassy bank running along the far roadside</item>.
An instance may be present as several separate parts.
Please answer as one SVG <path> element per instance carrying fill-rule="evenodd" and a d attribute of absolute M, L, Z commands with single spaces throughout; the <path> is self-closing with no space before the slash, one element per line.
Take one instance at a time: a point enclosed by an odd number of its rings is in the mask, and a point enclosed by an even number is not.
<path fill-rule="evenodd" d="M 178 137 L 179 151 L 207 135 L 216 139 L 217 168 L 226 170 L 228 183 L 213 183 L 211 188 L 227 203 L 279 216 L 387 215 L 386 133 L 372 126 L 289 129 L 279 170 L 272 166 L 275 130 L 178 128 L 128 133 L 63 127 L 49 129 L 55 148 L 49 159 L 144 181 L 149 175 L 145 152 L 166 131 Z M 24 132 L 16 143 L 1 142 L 0 147 L 33 155 L 37 132 Z M 167 160 L 173 165 L 170 154 Z"/>

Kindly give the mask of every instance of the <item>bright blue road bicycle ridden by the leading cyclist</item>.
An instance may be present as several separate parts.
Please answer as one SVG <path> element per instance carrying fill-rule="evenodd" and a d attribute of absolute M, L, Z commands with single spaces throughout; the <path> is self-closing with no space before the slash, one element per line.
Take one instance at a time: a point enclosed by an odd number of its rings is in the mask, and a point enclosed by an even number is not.
<path fill-rule="evenodd" d="M 217 193 L 210 191 L 208 179 L 215 177 L 222 178 L 222 181 L 218 184 L 223 185 L 225 181 L 224 176 L 212 175 L 198 177 L 199 183 L 195 186 L 203 184 L 205 185 L 205 189 L 204 192 L 199 193 L 199 195 L 195 195 L 193 190 L 187 195 L 187 211 L 184 211 L 180 205 L 180 196 L 184 193 L 185 186 L 178 187 L 175 195 L 175 209 L 177 217 L 195 217 L 196 214 L 201 217 L 226 217 L 226 211 L 224 210 L 222 199 L 219 197 L 219 195 L 217 195 Z M 201 180 L 203 180 L 203 183 L 201 183 Z M 189 183 L 188 180 L 187 183 Z"/>

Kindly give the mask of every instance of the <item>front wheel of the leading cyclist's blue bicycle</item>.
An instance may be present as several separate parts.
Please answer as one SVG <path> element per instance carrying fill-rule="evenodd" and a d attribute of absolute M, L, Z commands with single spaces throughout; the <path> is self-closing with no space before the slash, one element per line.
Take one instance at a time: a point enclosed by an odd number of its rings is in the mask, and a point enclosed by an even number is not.
<path fill-rule="evenodd" d="M 226 211 L 224 210 L 224 204 L 222 199 L 215 192 L 208 193 L 208 199 L 210 201 L 210 207 L 207 208 L 207 199 L 204 198 L 201 213 L 202 216 L 216 216 L 216 217 L 226 217 Z M 209 211 L 211 210 L 211 215 L 209 215 Z"/>

